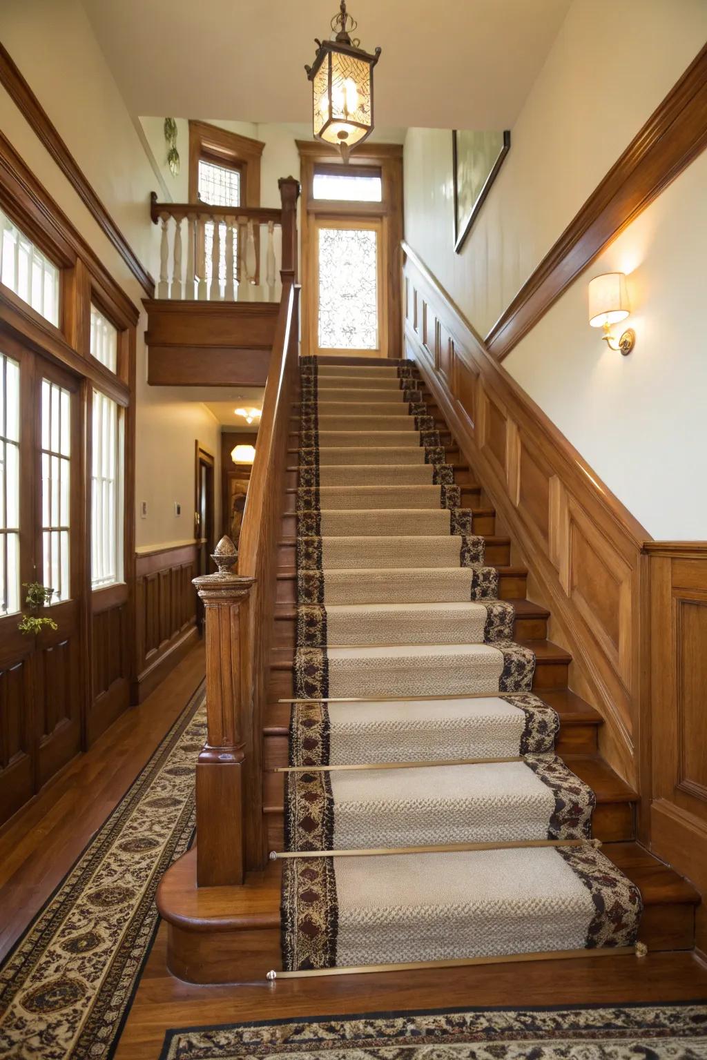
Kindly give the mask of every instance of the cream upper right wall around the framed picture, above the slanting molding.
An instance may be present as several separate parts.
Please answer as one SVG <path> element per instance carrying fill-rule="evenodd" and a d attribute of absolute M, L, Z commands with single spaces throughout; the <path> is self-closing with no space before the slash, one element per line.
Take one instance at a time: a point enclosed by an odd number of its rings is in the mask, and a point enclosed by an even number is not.
<path fill-rule="evenodd" d="M 406 238 L 481 335 L 706 38 L 705 0 L 575 0 L 461 254 L 452 135 L 408 130 Z"/>

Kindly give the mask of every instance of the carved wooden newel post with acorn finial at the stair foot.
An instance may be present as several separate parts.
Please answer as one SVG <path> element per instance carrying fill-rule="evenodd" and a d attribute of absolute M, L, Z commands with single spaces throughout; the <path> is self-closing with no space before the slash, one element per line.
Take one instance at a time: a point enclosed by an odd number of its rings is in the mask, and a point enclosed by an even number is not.
<path fill-rule="evenodd" d="M 222 537 L 214 575 L 195 578 L 204 601 L 207 644 L 207 742 L 196 764 L 196 882 L 199 887 L 244 879 L 245 702 L 243 655 L 247 601 L 254 579 L 233 573 L 237 551 Z"/>

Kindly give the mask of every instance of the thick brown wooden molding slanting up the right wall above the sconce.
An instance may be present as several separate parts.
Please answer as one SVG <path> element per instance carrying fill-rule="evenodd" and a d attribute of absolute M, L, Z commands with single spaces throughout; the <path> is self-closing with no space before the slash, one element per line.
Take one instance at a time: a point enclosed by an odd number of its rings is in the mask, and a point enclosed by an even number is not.
<path fill-rule="evenodd" d="M 502 360 L 602 250 L 707 147 L 707 45 L 668 92 L 498 318 Z"/>

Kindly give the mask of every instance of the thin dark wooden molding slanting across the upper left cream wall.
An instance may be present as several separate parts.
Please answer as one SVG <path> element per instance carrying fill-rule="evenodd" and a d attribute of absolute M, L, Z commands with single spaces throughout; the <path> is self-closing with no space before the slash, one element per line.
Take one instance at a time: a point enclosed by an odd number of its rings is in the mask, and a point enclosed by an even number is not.
<path fill-rule="evenodd" d="M 7 90 L 13 102 L 99 223 L 140 286 L 149 298 L 153 298 L 155 281 L 108 213 L 78 162 L 59 136 L 56 126 L 2 43 L 0 43 L 0 84 Z"/>

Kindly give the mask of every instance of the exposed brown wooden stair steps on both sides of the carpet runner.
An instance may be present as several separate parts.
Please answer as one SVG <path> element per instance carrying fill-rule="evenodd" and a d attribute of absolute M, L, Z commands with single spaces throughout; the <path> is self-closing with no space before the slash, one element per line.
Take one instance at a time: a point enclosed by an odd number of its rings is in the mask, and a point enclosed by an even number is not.
<path fill-rule="evenodd" d="M 340 363 L 340 358 L 321 359 Z M 350 358 L 349 363 L 371 364 L 369 358 Z M 570 690 L 571 655 L 548 639 L 550 614 L 527 598 L 528 572 L 512 563 L 512 543 L 496 532 L 496 513 L 476 482 L 473 470 L 464 462 L 426 386 L 423 400 L 441 432 L 446 462 L 455 467 L 455 481 L 462 488 L 462 507 L 473 510 L 474 533 L 485 540 L 485 562 L 498 569 L 499 596 L 514 605 L 514 638 L 535 654 L 533 691 L 560 716 L 556 752 L 596 793 L 593 833 L 602 841 L 603 852 L 640 888 L 644 912 L 639 939 L 649 948 L 646 959 L 650 960 L 650 953 L 655 951 L 691 950 L 700 896 L 691 884 L 636 842 L 638 794 L 599 753 L 601 716 Z M 263 813 L 268 848 L 272 850 L 283 848 L 284 788 L 283 774 L 272 771 L 287 765 L 289 723 L 289 705 L 279 701 L 293 695 L 298 411 L 295 406 L 287 442 L 285 506 L 278 544 L 273 635 L 262 728 Z M 271 968 L 279 969 L 281 863 L 273 862 L 262 871 L 247 873 L 243 886 L 200 888 L 195 885 L 194 863 L 192 851 L 170 870 L 158 900 L 162 915 L 170 921 L 170 968 L 174 974 L 199 983 L 251 982 L 263 979 Z M 520 984 L 527 969 L 519 964 L 509 967 L 516 968 Z M 555 1004 L 563 1001 L 562 982 L 563 971 L 559 966 Z"/>

